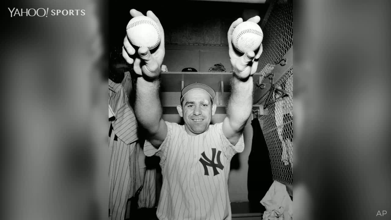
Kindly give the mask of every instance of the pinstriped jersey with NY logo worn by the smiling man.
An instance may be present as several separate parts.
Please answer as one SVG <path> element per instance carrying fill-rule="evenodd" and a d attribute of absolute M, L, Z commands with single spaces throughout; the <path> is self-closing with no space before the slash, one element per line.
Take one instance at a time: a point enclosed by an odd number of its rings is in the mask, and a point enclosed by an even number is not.
<path fill-rule="evenodd" d="M 160 157 L 158 218 L 230 220 L 228 174 L 232 156 L 243 151 L 243 135 L 234 146 L 222 133 L 222 123 L 196 136 L 188 135 L 184 125 L 165 123 L 168 132 L 161 146 L 144 144 L 145 155 Z"/>

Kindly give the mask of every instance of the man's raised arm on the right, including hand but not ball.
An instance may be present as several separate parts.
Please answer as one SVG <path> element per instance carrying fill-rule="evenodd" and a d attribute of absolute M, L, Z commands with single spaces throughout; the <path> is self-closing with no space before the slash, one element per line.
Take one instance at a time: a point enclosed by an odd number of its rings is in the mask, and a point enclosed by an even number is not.
<path fill-rule="evenodd" d="M 260 17 L 255 16 L 248 21 L 258 23 Z M 231 144 L 237 143 L 251 114 L 254 87 L 253 74 L 258 67 L 258 59 L 262 54 L 262 44 L 256 51 L 256 55 L 253 51 L 240 54 L 233 48 L 232 32 L 241 22 L 243 22 L 242 18 L 237 19 L 228 30 L 228 47 L 233 76 L 231 78 L 231 96 L 228 101 L 227 116 L 222 124 L 222 131 Z"/>

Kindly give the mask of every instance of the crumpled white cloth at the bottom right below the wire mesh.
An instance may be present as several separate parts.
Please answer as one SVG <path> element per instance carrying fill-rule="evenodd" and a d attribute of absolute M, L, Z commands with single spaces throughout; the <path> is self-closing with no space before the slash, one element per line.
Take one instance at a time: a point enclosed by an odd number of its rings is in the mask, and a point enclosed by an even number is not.
<path fill-rule="evenodd" d="M 293 202 L 284 184 L 274 181 L 260 203 L 266 211 L 263 220 L 292 220 Z"/>

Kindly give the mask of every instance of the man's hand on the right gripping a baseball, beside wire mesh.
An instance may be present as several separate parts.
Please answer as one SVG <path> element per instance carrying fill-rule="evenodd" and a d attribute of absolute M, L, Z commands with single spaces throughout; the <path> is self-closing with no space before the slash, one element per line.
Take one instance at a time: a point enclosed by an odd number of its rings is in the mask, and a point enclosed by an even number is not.
<path fill-rule="evenodd" d="M 255 16 L 250 18 L 248 21 L 258 23 L 260 21 L 259 16 Z M 233 72 L 235 72 L 235 76 L 238 79 L 247 79 L 249 76 L 252 76 L 257 67 L 258 67 L 258 59 L 262 54 L 262 43 L 259 47 L 258 50 L 256 50 L 256 55 L 255 52 L 249 51 L 246 52 L 245 54 L 242 54 L 235 50 L 235 48 L 232 45 L 232 33 L 233 29 L 239 24 L 242 23 L 243 19 L 238 18 L 236 21 L 234 21 L 231 24 L 230 29 L 228 30 L 228 47 L 229 47 L 229 53 L 230 53 L 230 59 L 231 59 L 231 64 L 233 67 Z"/>

